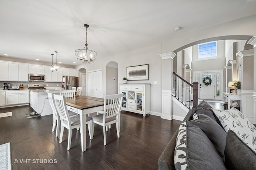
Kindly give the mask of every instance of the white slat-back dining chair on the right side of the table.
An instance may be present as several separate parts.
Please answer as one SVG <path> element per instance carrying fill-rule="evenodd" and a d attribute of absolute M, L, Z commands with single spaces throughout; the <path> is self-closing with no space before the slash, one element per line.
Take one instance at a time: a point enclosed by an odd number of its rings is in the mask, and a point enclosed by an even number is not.
<path fill-rule="evenodd" d="M 106 145 L 106 126 L 116 123 L 117 137 L 120 137 L 118 119 L 120 116 L 123 95 L 124 94 L 105 95 L 103 114 L 92 117 L 93 129 L 94 123 L 103 126 L 104 145 Z"/>

